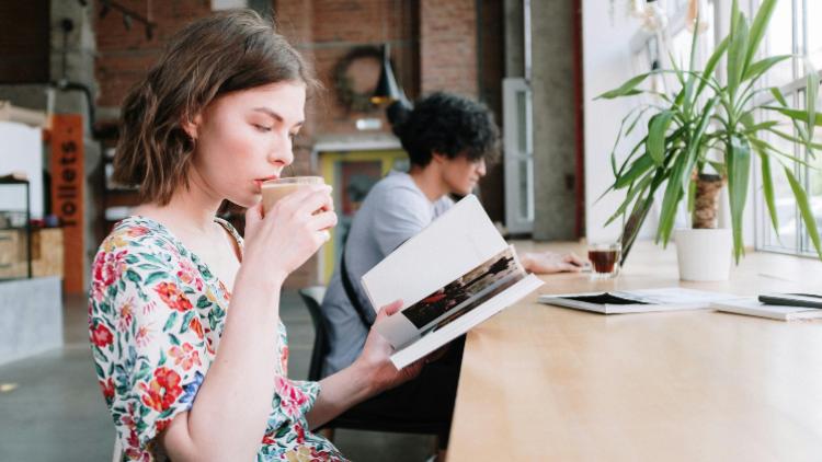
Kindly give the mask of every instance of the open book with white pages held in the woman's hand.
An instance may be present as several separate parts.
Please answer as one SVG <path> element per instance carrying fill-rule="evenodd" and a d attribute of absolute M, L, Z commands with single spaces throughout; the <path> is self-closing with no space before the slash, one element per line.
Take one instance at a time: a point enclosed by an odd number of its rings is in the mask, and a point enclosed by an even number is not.
<path fill-rule="evenodd" d="M 520 259 L 476 196 L 466 196 L 363 276 L 373 307 L 402 300 L 374 325 L 398 369 L 515 303 L 543 281 Z"/>

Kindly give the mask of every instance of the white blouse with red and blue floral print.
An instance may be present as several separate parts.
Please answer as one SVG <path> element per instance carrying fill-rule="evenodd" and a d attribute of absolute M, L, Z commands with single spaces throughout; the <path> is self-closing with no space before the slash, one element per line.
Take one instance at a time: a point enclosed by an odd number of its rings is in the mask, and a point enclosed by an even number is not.
<path fill-rule="evenodd" d="M 237 231 L 216 220 L 242 249 Z M 155 437 L 194 404 L 230 299 L 208 266 L 157 221 L 126 218 L 103 241 L 92 267 L 89 331 L 123 460 L 165 459 Z M 306 414 L 320 386 L 287 379 L 282 322 L 278 349 L 275 394 L 256 460 L 344 460 L 331 442 L 308 431 Z"/>

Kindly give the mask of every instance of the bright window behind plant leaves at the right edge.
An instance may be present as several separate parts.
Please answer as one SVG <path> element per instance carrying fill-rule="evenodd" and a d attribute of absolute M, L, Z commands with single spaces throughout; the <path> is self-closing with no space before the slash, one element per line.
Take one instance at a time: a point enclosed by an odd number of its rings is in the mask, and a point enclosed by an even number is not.
<path fill-rule="evenodd" d="M 753 1 L 754 5 L 758 0 Z M 768 34 L 765 37 L 765 53 L 768 56 L 794 54 L 797 56 L 808 56 L 817 69 L 822 68 L 822 31 L 814 26 L 812 18 L 822 16 L 822 2 L 818 0 L 788 0 L 777 3 L 774 15 L 770 20 Z M 790 31 L 790 33 L 787 33 Z M 788 104 L 794 107 L 804 107 L 807 71 L 804 60 L 795 58 L 786 60 L 768 72 L 767 84 L 778 86 Z M 817 103 L 819 106 L 819 102 Z M 769 114 L 768 117 L 773 117 Z M 786 125 L 783 130 L 792 132 L 796 137 L 798 134 L 787 120 L 783 119 Z M 822 132 L 815 130 L 815 142 L 822 141 Z M 811 169 L 806 165 L 796 165 L 795 175 L 806 187 L 809 194 L 809 201 L 813 210 L 817 226 L 822 228 L 822 152 L 817 152 L 817 159 L 807 152 L 803 146 L 786 141 L 773 136 L 768 142 L 777 147 L 783 152 L 790 153 L 797 158 L 806 160 Z M 772 170 L 778 165 L 772 163 Z M 756 192 L 762 188 L 761 173 L 756 166 Z M 776 172 L 775 172 L 776 173 Z M 810 241 L 808 231 L 804 229 L 796 206 L 794 194 L 791 193 L 788 181 L 785 175 L 774 175 L 774 189 L 779 221 L 779 233 L 774 231 L 770 223 L 770 217 L 767 213 L 764 197 L 762 194 L 754 194 L 756 200 L 756 246 L 761 250 L 794 253 L 800 255 L 815 255 L 815 250 Z"/>

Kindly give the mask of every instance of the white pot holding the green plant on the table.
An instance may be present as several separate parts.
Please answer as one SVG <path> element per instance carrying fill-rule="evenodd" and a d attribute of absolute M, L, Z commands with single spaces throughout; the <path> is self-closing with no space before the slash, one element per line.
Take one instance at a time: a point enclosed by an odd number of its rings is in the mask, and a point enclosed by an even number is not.
<path fill-rule="evenodd" d="M 733 251 L 731 230 L 675 230 L 674 242 L 680 279 L 728 280 Z"/>

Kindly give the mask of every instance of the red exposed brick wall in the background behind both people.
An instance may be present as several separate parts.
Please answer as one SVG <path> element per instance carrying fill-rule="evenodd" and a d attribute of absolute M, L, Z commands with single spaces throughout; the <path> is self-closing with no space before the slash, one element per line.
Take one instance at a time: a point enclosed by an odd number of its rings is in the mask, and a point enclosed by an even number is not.
<path fill-rule="evenodd" d="M 149 14 L 145 0 L 121 0 L 121 3 L 140 14 Z M 315 63 L 326 89 L 308 105 L 309 139 L 313 134 L 356 132 L 354 122 L 358 117 L 384 117 L 381 111 L 351 113 L 338 103 L 332 79 L 334 66 L 357 45 L 389 42 L 395 72 L 411 99 L 420 90 L 448 90 L 477 96 L 473 0 L 278 0 L 273 5 L 279 32 Z M 100 5 L 96 8 L 99 11 Z M 209 13 L 210 2 L 204 0 L 151 2 L 151 20 L 157 23 L 151 41 L 136 22 L 130 31 L 126 30 L 118 11 L 112 10 L 105 18 L 98 19 L 98 106 L 119 107 L 128 90 L 157 60 L 171 35 Z M 418 13 L 420 37 L 413 36 Z M 418 41 L 419 51 L 415 49 Z M 384 119 L 384 131 L 388 130 Z"/>

